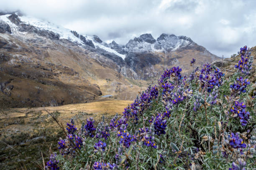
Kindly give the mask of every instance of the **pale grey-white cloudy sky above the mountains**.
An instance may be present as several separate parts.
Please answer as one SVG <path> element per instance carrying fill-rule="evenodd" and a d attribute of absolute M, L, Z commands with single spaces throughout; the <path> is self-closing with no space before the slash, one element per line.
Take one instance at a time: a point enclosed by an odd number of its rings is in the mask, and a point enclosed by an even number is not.
<path fill-rule="evenodd" d="M 256 45 L 256 0 L 0 0 L 103 41 L 126 44 L 143 33 L 185 35 L 215 55 L 229 57 Z"/>

